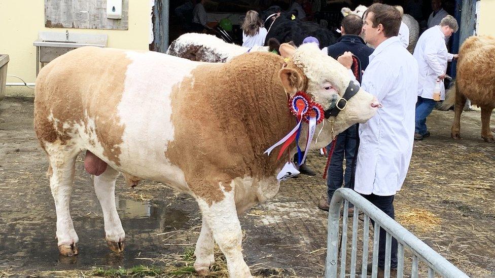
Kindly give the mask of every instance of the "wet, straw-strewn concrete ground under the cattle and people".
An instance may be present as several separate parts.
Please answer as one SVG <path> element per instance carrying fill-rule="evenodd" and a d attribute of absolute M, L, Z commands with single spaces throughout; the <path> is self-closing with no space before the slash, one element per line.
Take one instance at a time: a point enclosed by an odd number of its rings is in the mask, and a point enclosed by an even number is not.
<path fill-rule="evenodd" d="M 110 252 L 101 209 L 80 156 L 70 201 L 80 254 L 59 257 L 47 161 L 32 130 L 32 110 L 32 98 L 0 102 L 0 270 L 27 275 L 102 265 L 131 267 L 194 248 L 201 218 L 193 198 L 151 181 L 128 188 L 119 177 L 116 198 L 126 248 L 122 255 Z M 434 111 L 428 122 L 432 136 L 415 142 L 396 212 L 433 212 L 442 221 L 438 229 L 419 232 L 406 227 L 469 275 L 489 277 L 495 275 L 495 145 L 479 138 L 478 111 L 463 114 L 464 139 L 451 140 L 452 115 Z M 325 192 L 324 164 L 325 158 L 312 152 L 309 165 L 319 175 L 282 183 L 273 200 L 239 217 L 245 231 L 243 254 L 252 269 L 266 268 L 260 273 L 267 275 L 281 268 L 286 276 L 323 276 L 327 213 L 316 203 Z"/>

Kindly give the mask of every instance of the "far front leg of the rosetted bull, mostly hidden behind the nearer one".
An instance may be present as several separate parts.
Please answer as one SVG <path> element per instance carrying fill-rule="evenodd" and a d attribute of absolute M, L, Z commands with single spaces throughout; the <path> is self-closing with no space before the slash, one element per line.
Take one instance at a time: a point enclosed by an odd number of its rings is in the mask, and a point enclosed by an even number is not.
<path fill-rule="evenodd" d="M 215 262 L 215 256 L 213 253 L 214 247 L 215 243 L 213 241 L 213 233 L 211 233 L 211 229 L 208 227 L 208 224 L 203 217 L 201 233 L 199 234 L 196 249 L 194 250 L 194 255 L 196 256 L 194 270 L 196 270 L 196 273 L 199 275 L 207 275 L 211 264 Z"/>

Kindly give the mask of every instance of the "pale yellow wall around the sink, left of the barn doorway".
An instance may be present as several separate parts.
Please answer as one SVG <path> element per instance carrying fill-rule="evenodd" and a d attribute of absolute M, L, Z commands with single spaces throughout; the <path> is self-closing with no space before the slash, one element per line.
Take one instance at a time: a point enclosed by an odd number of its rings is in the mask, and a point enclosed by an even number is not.
<path fill-rule="evenodd" d="M 7 74 L 15 74 L 27 83 L 36 79 L 36 48 L 32 45 L 39 31 L 97 33 L 108 35 L 108 47 L 148 50 L 150 43 L 150 0 L 129 1 L 128 30 L 46 28 L 45 1 L 0 0 L 0 54 L 8 54 Z M 21 82 L 7 77 L 8 83 Z"/>

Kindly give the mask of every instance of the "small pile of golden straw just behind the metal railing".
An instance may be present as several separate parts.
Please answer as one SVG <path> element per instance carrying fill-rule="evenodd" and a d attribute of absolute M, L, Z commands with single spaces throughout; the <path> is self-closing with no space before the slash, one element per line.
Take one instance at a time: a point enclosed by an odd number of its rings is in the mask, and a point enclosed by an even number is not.
<path fill-rule="evenodd" d="M 438 229 L 441 222 L 431 211 L 416 208 L 404 208 L 396 214 L 396 219 L 401 225 L 412 226 L 420 232 Z"/>

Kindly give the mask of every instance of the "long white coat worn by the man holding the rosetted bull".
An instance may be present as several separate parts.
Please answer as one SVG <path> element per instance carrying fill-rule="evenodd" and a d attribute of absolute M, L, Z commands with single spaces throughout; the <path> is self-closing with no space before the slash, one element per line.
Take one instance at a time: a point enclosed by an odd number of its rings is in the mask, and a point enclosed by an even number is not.
<path fill-rule="evenodd" d="M 362 88 L 383 105 L 359 127 L 355 190 L 396 194 L 406 178 L 414 142 L 417 62 L 393 36 L 370 55 Z"/>

